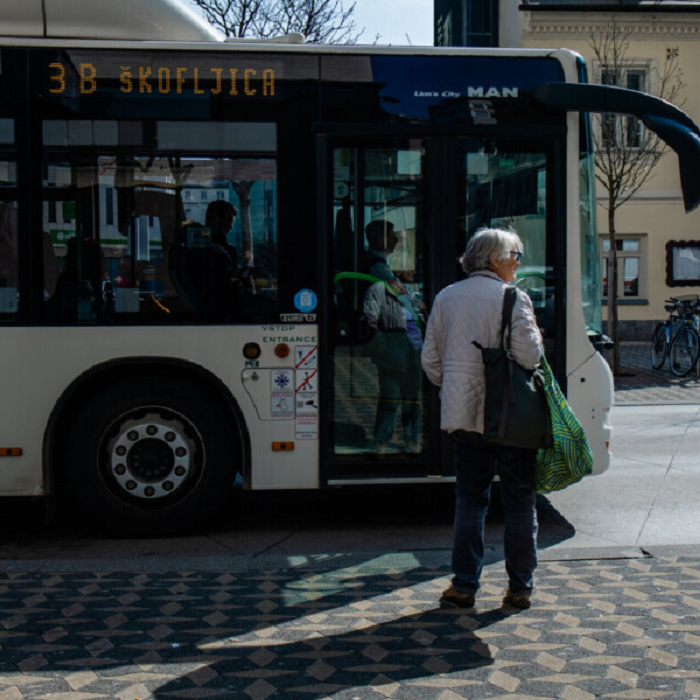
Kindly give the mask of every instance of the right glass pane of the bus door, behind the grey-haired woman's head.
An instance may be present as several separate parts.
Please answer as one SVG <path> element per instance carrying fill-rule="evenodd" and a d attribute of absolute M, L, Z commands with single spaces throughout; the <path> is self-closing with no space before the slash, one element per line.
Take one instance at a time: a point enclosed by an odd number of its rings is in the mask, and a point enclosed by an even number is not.
<path fill-rule="evenodd" d="M 523 241 L 524 256 L 517 286 L 532 300 L 545 338 L 545 352 L 554 353 L 556 240 L 549 234 L 548 184 L 552 159 L 536 143 L 470 139 L 458 149 L 457 247 L 480 228 L 512 228 Z M 562 237 L 563 246 L 563 237 Z"/>

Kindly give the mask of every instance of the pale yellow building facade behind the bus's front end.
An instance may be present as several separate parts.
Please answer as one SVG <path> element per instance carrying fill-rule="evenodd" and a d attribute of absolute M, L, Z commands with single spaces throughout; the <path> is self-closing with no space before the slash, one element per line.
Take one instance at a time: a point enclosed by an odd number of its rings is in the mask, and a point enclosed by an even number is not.
<path fill-rule="evenodd" d="M 698 123 L 700 11 L 681 11 L 680 3 L 664 10 L 664 4 L 637 6 L 637 11 L 629 11 L 628 5 L 614 13 L 618 34 L 629 33 L 630 38 L 625 53 L 629 80 L 622 84 L 658 95 L 657 73 L 676 61 L 684 83 L 676 104 Z M 512 9 L 508 12 L 515 25 L 502 15 L 501 27 L 510 26 L 508 43 L 512 46 L 520 36 L 523 47 L 572 49 L 586 59 L 589 81 L 602 82 L 593 41 L 610 25 L 611 6 L 528 7 L 520 6 L 517 19 Z M 668 315 L 666 299 L 700 294 L 700 208 L 685 213 L 673 151 L 662 156 L 653 173 L 615 215 L 621 339 L 647 340 L 654 325 Z M 606 279 L 607 191 L 600 184 L 597 198 L 601 277 Z"/>

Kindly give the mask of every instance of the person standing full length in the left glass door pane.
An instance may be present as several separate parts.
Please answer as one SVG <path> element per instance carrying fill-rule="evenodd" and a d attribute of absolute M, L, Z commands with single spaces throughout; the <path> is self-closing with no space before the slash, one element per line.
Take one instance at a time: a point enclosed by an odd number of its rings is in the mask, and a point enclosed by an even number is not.
<path fill-rule="evenodd" d="M 401 405 L 404 452 L 419 453 L 420 352 L 423 321 L 411 291 L 389 266 L 399 237 L 390 221 L 372 221 L 365 228 L 369 244 L 364 272 L 374 278 L 364 297 L 363 314 L 373 337 L 367 352 L 377 367 L 379 394 L 374 423 L 374 452 L 387 453 Z"/>

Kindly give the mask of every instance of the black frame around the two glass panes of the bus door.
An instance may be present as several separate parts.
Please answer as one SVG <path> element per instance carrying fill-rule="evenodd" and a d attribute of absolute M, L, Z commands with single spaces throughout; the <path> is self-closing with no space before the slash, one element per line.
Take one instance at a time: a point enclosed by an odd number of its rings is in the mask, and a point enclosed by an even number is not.
<path fill-rule="evenodd" d="M 454 225 L 457 221 L 459 206 L 458 194 L 453 188 L 440 189 L 440 185 L 430 183 L 444 182 L 445 174 L 451 175 L 458 172 L 459 152 L 455 144 L 470 138 L 490 138 L 496 141 L 528 140 L 542 143 L 543 151 L 551 158 L 551 167 L 547 171 L 547 219 L 546 233 L 548 240 L 557 241 L 552 260 L 553 266 L 559 270 L 566 269 L 567 263 L 567 237 L 558 235 L 558 232 L 566 232 L 566 201 L 568 178 L 566 172 L 566 130 L 535 128 L 512 129 L 506 133 L 488 133 L 481 129 L 449 129 L 443 133 L 426 132 L 425 129 L 410 132 L 396 131 L 392 127 L 373 126 L 362 129 L 323 129 L 316 135 L 316 173 L 317 182 L 315 191 L 317 195 L 317 265 L 320 273 L 319 288 L 330 290 L 329 274 L 331 269 L 328 262 L 331 260 L 331 242 L 333 240 L 332 217 L 330 211 L 330 186 L 329 178 L 332 177 L 332 163 L 330 157 L 336 144 L 356 144 L 371 146 L 372 142 L 402 139 L 420 139 L 425 142 L 426 173 L 425 182 L 428 183 L 428 201 L 432 206 L 427 207 L 426 235 L 428 236 L 428 250 L 430 252 L 427 261 L 425 301 L 428 312 L 438 292 L 449 284 L 458 281 L 457 264 L 449 254 L 441 254 L 450 251 L 454 246 Z M 578 206 L 578 203 L 577 203 Z M 331 299 L 328 294 L 322 295 L 319 304 L 319 368 L 322 377 L 330 377 L 330 334 L 333 329 L 331 323 Z M 559 381 L 563 391 L 566 392 L 566 275 L 555 276 L 555 347 L 556 355 L 550 363 L 552 370 Z M 320 425 L 319 425 L 319 483 L 329 484 L 328 465 L 330 447 L 330 405 L 331 391 L 328 382 L 322 382 L 320 387 Z M 427 383 L 429 395 L 424 400 L 424 406 L 429 412 L 429 420 L 426 437 L 433 448 L 430 456 L 426 455 L 426 461 L 430 459 L 433 467 L 431 476 L 454 476 L 454 458 L 452 439 L 440 430 L 440 394 L 439 389 Z M 435 448 L 438 448 L 437 450 Z M 400 478 L 400 477 L 398 477 Z M 410 478 L 410 477 L 406 477 Z M 361 481 L 358 479 L 358 482 Z"/>

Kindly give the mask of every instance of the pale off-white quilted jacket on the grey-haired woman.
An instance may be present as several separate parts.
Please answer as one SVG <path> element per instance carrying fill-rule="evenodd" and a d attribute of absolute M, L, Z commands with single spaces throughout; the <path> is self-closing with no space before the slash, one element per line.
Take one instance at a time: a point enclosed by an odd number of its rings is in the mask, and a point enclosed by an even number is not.
<path fill-rule="evenodd" d="M 440 387 L 440 425 L 484 432 L 484 364 L 476 340 L 485 348 L 502 347 L 501 313 L 506 283 L 494 272 L 472 273 L 435 298 L 423 345 L 428 379 Z M 511 322 L 511 351 L 518 364 L 533 369 L 542 355 L 542 336 L 530 297 L 518 291 Z"/>

